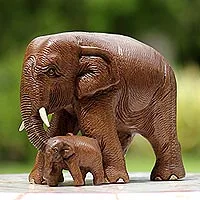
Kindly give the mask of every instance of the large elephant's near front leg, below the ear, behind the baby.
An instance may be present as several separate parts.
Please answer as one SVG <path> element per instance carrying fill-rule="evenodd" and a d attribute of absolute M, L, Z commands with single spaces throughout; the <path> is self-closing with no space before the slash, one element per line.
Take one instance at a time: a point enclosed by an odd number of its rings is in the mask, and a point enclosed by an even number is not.
<path fill-rule="evenodd" d="M 81 105 L 79 120 L 84 135 L 97 139 L 103 157 L 105 175 L 109 182 L 115 183 L 120 178 L 129 181 L 125 159 L 117 135 L 113 107 L 106 103 Z"/>

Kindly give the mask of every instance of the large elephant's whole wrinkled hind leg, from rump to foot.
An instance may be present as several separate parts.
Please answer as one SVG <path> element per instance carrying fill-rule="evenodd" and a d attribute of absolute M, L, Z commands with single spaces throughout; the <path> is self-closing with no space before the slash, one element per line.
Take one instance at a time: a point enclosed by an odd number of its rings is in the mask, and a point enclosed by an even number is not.
<path fill-rule="evenodd" d="M 165 90 L 163 98 L 153 104 L 148 133 L 144 136 L 151 143 L 156 163 L 151 180 L 175 180 L 185 176 L 181 147 L 176 132 L 176 92 Z M 151 131 L 150 131 L 151 130 Z"/>

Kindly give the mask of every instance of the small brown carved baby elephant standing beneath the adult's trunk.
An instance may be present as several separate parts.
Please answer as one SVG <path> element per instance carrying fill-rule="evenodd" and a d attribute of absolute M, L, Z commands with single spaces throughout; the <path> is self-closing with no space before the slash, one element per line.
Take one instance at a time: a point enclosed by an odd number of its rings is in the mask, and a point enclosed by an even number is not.
<path fill-rule="evenodd" d="M 63 169 L 68 169 L 75 186 L 85 184 L 91 172 L 94 185 L 104 183 L 102 155 L 97 141 L 85 136 L 57 136 L 50 138 L 45 149 L 44 179 L 49 186 L 63 182 Z"/>

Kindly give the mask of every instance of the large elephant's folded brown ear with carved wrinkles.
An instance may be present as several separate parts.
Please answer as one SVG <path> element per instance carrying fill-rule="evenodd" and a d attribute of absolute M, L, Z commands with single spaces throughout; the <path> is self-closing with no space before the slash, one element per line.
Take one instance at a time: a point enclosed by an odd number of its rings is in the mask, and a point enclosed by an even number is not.
<path fill-rule="evenodd" d="M 77 80 L 79 99 L 92 96 L 119 83 L 114 56 L 107 50 L 81 46 L 80 66 Z"/>

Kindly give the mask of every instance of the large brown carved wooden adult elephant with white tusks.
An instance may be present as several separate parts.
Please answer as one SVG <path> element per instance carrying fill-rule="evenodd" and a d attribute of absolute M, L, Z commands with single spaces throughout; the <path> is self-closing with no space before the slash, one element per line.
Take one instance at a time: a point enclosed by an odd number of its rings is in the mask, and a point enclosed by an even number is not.
<path fill-rule="evenodd" d="M 31 41 L 23 63 L 21 113 L 28 138 L 39 150 L 29 176 L 35 183 L 43 182 L 47 140 L 79 130 L 97 139 L 110 182 L 127 182 L 124 154 L 136 133 L 156 155 L 151 180 L 185 175 L 174 73 L 156 50 L 132 38 L 68 32 Z"/>

